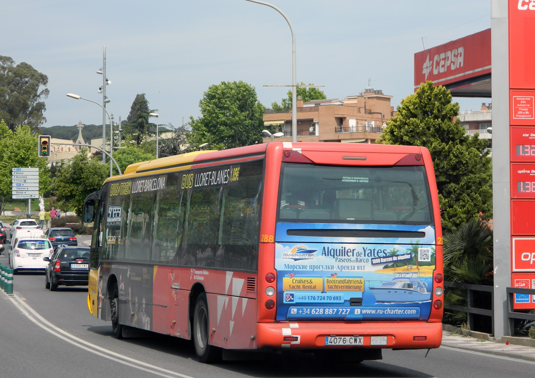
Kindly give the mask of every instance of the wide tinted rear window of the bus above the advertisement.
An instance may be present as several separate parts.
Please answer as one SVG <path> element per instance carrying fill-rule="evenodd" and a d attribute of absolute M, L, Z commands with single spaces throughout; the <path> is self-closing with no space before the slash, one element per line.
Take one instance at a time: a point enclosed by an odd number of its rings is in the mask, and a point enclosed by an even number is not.
<path fill-rule="evenodd" d="M 425 168 L 284 163 L 283 222 L 433 224 Z"/>

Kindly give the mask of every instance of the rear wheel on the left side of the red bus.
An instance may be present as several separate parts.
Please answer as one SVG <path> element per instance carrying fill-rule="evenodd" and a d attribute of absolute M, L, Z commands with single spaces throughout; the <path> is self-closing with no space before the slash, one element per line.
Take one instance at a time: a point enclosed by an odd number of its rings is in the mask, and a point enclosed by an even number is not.
<path fill-rule="evenodd" d="M 206 293 L 201 293 L 195 303 L 193 312 L 193 345 L 197 360 L 210 364 L 221 359 L 221 349 L 209 344 L 210 322 Z"/>

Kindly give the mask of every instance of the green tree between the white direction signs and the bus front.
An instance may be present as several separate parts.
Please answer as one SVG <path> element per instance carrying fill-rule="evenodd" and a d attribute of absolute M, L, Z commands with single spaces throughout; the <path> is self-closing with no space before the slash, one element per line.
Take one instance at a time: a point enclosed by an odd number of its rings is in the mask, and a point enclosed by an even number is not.
<path fill-rule="evenodd" d="M 107 164 L 87 156 L 87 148 L 82 148 L 71 161 L 57 163 L 56 177 L 51 183 L 57 206 L 64 210 L 74 208 L 81 216 L 83 201 L 90 193 L 100 190 L 109 172 Z"/>

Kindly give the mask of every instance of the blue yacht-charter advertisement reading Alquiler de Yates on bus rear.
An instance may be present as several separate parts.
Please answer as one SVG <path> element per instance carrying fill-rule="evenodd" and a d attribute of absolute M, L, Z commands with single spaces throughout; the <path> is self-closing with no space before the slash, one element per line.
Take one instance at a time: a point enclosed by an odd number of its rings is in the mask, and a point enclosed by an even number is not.
<path fill-rule="evenodd" d="M 318 226 L 322 230 L 341 227 Z M 277 234 L 296 227 L 299 224 L 286 223 L 277 228 Z M 409 229 L 425 237 L 412 245 L 402 238 L 388 244 L 355 243 L 354 239 L 332 243 L 327 237 L 317 237 L 318 243 L 277 243 L 277 320 L 427 320 L 435 268 L 431 265 L 434 230 Z M 428 265 L 414 265 L 415 258 L 418 264 Z"/>

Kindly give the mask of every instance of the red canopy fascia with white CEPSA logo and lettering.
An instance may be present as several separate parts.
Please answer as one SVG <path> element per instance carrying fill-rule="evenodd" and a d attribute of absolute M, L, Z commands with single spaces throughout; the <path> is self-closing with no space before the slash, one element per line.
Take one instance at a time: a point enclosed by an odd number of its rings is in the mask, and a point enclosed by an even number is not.
<path fill-rule="evenodd" d="M 465 36 L 414 55 L 414 88 L 431 80 L 437 85 L 491 72 L 491 29 Z"/>

